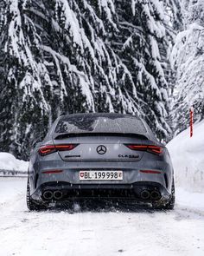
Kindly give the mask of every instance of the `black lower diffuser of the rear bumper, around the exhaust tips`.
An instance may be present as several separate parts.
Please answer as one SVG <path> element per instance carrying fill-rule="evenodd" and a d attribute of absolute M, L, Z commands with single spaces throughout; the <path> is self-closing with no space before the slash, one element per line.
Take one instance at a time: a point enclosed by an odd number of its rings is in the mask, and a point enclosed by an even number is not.
<path fill-rule="evenodd" d="M 45 199 L 44 192 L 61 191 L 61 199 L 52 197 Z M 141 197 L 143 191 L 148 191 L 150 197 Z M 158 198 L 151 198 L 151 192 L 157 192 Z M 170 194 L 163 185 L 156 182 L 135 182 L 133 184 L 71 184 L 68 182 L 47 182 L 42 184 L 31 195 L 32 200 L 41 204 L 61 203 L 64 201 L 86 201 L 86 200 L 129 200 L 136 203 L 165 203 L 169 200 Z"/>

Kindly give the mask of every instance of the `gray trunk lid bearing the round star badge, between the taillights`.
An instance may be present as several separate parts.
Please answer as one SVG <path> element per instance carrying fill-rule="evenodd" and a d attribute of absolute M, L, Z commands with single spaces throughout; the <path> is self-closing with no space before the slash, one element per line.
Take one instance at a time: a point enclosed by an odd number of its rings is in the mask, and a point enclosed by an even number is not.
<path fill-rule="evenodd" d="M 140 161 L 143 151 L 132 151 L 124 144 L 141 144 L 141 138 L 125 135 L 59 135 L 54 145 L 78 144 L 72 150 L 59 151 L 63 161 Z"/>

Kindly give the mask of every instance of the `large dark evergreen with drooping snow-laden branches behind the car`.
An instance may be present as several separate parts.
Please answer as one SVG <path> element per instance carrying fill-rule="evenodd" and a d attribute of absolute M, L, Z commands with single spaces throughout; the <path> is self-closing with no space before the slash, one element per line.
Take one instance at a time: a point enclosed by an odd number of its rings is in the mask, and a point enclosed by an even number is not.
<path fill-rule="evenodd" d="M 166 140 L 175 3 L 1 1 L 1 150 L 27 159 L 50 122 L 79 112 L 141 115 Z"/>

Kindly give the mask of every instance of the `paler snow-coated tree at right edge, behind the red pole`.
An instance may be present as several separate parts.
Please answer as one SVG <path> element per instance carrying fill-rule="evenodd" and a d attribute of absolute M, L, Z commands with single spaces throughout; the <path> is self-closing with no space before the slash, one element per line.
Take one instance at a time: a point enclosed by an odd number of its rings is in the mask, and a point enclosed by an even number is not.
<path fill-rule="evenodd" d="M 176 36 L 172 64 L 176 70 L 175 134 L 189 126 L 189 108 L 194 121 L 204 118 L 204 3 L 182 1 L 184 30 Z"/>

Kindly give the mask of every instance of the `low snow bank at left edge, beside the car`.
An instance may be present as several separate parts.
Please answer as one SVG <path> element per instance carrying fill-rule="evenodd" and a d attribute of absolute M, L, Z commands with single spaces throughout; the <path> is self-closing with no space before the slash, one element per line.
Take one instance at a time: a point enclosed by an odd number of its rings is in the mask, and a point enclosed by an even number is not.
<path fill-rule="evenodd" d="M 15 170 L 21 172 L 27 172 L 29 162 L 17 160 L 15 156 L 10 153 L 0 153 L 0 170 Z"/>

